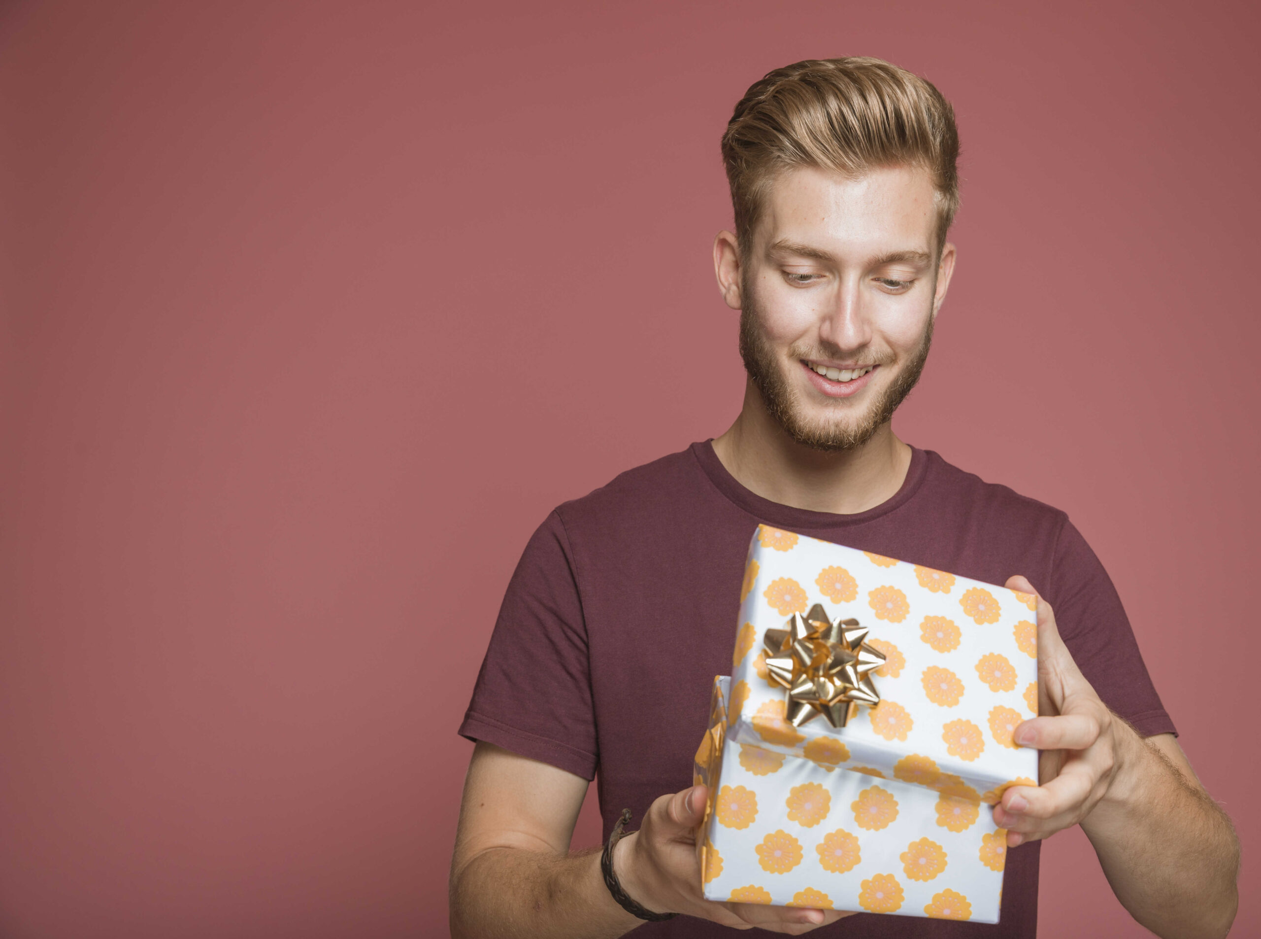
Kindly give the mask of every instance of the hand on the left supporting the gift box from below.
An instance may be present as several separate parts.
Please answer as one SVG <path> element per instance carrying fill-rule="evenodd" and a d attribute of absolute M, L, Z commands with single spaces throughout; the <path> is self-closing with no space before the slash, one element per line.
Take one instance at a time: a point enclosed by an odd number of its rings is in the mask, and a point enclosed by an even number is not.
<path fill-rule="evenodd" d="M 791 906 L 714 902 L 701 896 L 696 828 L 705 814 L 705 786 L 657 799 L 638 832 L 613 849 L 613 872 L 639 905 L 657 912 L 682 912 L 735 929 L 768 929 L 801 935 L 850 912 Z"/>

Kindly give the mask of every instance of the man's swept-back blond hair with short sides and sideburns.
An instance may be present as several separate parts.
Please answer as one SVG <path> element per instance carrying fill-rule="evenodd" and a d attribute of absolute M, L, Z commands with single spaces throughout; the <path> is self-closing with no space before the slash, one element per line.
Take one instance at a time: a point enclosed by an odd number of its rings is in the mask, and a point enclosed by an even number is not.
<path fill-rule="evenodd" d="M 936 87 L 878 58 L 806 59 L 745 92 L 723 134 L 735 233 L 748 251 L 767 189 L 787 169 L 847 177 L 922 167 L 937 191 L 937 251 L 958 210 L 955 109 Z"/>

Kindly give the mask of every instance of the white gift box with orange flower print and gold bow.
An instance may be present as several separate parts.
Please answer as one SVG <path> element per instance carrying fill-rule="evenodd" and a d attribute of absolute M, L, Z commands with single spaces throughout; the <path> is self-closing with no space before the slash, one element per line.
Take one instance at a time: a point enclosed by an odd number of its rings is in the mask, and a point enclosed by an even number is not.
<path fill-rule="evenodd" d="M 758 528 L 695 783 L 709 900 L 997 923 L 1037 598 Z"/>

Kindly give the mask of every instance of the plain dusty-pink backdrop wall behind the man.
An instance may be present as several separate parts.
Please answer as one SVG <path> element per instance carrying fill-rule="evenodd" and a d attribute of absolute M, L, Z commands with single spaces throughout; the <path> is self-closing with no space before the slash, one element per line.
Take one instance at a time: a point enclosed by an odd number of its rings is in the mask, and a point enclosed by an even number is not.
<path fill-rule="evenodd" d="M 962 131 L 898 433 L 1072 515 L 1247 851 L 1257 8 L 438 8 L 3 14 L 0 933 L 445 930 L 512 567 L 735 415 L 719 135 L 836 54 Z M 1043 858 L 1048 935 L 1142 933 Z"/>

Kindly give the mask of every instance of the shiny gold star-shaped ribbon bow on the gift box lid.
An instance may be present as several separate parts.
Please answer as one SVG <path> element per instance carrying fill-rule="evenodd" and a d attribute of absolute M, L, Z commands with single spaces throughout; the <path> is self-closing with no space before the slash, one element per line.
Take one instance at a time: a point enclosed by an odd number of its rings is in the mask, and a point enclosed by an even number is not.
<path fill-rule="evenodd" d="M 859 704 L 880 703 L 871 673 L 884 665 L 884 653 L 865 642 L 868 632 L 857 620 L 834 623 L 820 603 L 793 613 L 787 630 L 767 630 L 767 671 L 788 689 L 788 723 L 801 727 L 822 714 L 844 727 Z"/>

